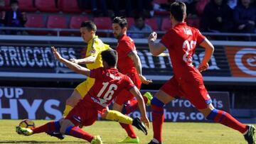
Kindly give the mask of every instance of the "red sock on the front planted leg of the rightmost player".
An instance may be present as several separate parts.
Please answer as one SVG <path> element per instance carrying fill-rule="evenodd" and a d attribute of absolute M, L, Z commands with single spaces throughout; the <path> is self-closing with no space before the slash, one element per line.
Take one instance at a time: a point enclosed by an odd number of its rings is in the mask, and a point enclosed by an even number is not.
<path fill-rule="evenodd" d="M 164 108 L 151 104 L 154 138 L 161 143 L 162 126 L 164 123 Z"/>

